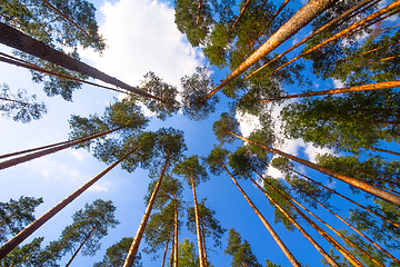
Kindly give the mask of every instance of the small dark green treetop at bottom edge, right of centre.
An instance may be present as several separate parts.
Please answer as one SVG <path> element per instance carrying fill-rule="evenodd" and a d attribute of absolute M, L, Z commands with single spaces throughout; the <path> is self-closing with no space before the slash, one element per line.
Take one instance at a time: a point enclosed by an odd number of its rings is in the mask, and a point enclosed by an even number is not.
<path fill-rule="evenodd" d="M 241 239 L 241 236 L 233 228 L 229 230 L 228 246 L 224 250 L 226 254 L 232 256 L 232 267 L 261 267 L 257 257 L 251 251 L 250 244 Z"/>

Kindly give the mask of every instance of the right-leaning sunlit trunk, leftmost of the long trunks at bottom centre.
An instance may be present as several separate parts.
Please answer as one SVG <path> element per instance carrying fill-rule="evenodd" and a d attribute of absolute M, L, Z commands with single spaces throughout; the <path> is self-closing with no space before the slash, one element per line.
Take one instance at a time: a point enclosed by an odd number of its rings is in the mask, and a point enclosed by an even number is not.
<path fill-rule="evenodd" d="M 123 267 L 131 267 L 133 265 L 133 261 L 136 259 L 136 255 L 137 255 L 137 253 L 139 250 L 139 245 L 140 245 L 141 238 L 143 237 L 143 233 L 144 233 L 144 229 L 146 229 L 147 221 L 149 220 L 152 206 L 154 205 L 157 194 L 158 194 L 158 191 L 160 189 L 162 178 L 163 178 L 164 172 L 167 170 L 167 166 L 168 166 L 170 156 L 171 156 L 171 152 L 168 152 L 168 155 L 166 157 L 166 162 L 164 162 L 164 165 L 162 167 L 162 170 L 161 170 L 161 174 L 160 174 L 160 177 L 159 177 L 159 180 L 158 180 L 158 182 L 157 182 L 157 185 L 154 187 L 154 190 L 151 194 L 149 205 L 146 208 L 146 211 L 144 211 L 143 218 L 142 218 L 140 225 L 139 225 L 137 235 L 134 236 L 134 238 L 132 240 L 132 244 L 131 244 L 131 247 L 129 248 L 127 258 L 126 258 L 126 260 L 123 263 Z"/>

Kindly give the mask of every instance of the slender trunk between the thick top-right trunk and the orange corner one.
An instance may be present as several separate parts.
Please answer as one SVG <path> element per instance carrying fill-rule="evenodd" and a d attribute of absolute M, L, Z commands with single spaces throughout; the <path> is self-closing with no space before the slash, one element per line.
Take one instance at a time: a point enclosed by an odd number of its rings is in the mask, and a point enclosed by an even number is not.
<path fill-rule="evenodd" d="M 348 11 L 346 11 L 344 13 L 342 13 L 341 16 L 337 17 L 336 19 L 332 19 L 331 21 L 329 21 L 327 24 L 322 26 L 321 28 L 319 28 L 318 30 L 316 30 L 314 32 L 312 32 L 310 36 L 306 37 L 304 39 L 302 39 L 300 42 L 296 43 L 294 46 L 292 46 L 291 48 L 289 48 L 288 50 L 286 50 L 284 52 L 278 55 L 277 57 L 274 57 L 272 60 L 270 60 L 268 63 L 263 65 L 262 67 L 260 67 L 259 69 L 257 69 L 256 71 L 253 71 L 251 75 L 247 76 L 244 79 L 250 78 L 251 76 L 256 75 L 257 72 L 259 72 L 260 70 L 262 70 L 263 68 L 266 68 L 267 66 L 269 66 L 270 63 L 272 63 L 273 61 L 280 59 L 281 57 L 283 57 L 284 55 L 291 52 L 292 50 L 294 50 L 296 48 L 300 47 L 301 44 L 303 44 L 304 42 L 311 40 L 313 37 L 318 36 L 319 33 L 321 33 L 322 31 L 324 31 L 326 29 L 328 29 L 329 27 L 333 26 L 334 23 L 339 22 L 340 20 L 342 20 L 343 18 L 346 18 L 347 16 L 349 16 L 350 13 L 354 12 L 356 10 L 360 9 L 361 7 L 368 4 L 369 2 L 371 2 L 372 0 L 364 0 L 358 4 L 356 4 L 353 8 L 349 9 Z"/>

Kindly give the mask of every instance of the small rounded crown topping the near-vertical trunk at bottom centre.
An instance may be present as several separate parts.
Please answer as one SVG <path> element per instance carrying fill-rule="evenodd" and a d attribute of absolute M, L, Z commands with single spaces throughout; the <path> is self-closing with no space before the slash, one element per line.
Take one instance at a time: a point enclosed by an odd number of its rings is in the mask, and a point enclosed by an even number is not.
<path fill-rule="evenodd" d="M 183 176 L 189 186 L 191 186 L 191 179 L 193 179 L 194 187 L 197 187 L 200 181 L 207 181 L 210 178 L 197 155 L 184 158 L 183 161 L 177 164 L 173 172 Z"/>

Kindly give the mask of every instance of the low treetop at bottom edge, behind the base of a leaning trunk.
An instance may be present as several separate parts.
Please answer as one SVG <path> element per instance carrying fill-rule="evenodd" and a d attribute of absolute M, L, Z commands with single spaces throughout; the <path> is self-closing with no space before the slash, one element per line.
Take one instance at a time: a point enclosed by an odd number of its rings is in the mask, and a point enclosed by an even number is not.
<path fill-rule="evenodd" d="M 124 259 L 128 255 L 129 248 L 132 244 L 133 238 L 123 237 L 119 243 L 116 243 L 111 247 L 109 247 L 106 251 L 103 260 L 100 263 L 96 263 L 93 267 L 120 267 L 123 265 Z M 140 263 L 141 255 L 140 253 L 137 255 L 133 261 L 133 267 L 141 267 Z"/>

